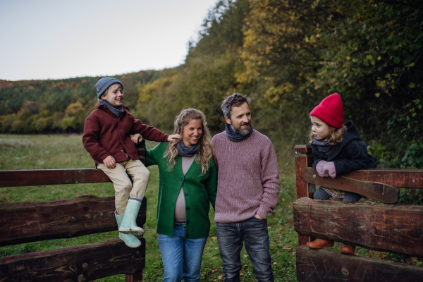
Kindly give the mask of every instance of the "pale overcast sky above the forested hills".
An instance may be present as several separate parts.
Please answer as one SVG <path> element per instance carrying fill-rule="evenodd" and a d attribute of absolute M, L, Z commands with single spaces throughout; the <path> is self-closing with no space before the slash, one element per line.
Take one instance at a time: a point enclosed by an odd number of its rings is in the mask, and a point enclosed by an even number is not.
<path fill-rule="evenodd" d="M 217 0 L 0 0 L 0 79 L 179 66 Z"/>

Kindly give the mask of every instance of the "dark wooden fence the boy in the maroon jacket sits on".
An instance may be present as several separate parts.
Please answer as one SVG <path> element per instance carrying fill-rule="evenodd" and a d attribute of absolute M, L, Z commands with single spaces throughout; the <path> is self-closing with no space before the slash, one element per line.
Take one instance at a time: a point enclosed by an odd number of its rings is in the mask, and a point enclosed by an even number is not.
<path fill-rule="evenodd" d="M 137 148 L 140 160 L 145 151 Z M 0 187 L 106 183 L 101 170 L 45 169 L 0 171 Z M 137 225 L 143 226 L 147 199 L 142 200 Z M 53 202 L 0 204 L 0 246 L 40 240 L 73 238 L 117 231 L 114 197 L 85 195 Z M 92 281 L 126 274 L 125 281 L 142 281 L 145 268 L 145 239 L 130 248 L 121 239 L 63 247 L 0 258 L 0 281 Z"/>

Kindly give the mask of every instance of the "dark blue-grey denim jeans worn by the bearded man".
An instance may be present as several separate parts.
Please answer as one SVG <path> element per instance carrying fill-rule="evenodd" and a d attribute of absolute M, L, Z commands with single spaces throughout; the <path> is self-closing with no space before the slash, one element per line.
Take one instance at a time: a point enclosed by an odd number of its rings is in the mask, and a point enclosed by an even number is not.
<path fill-rule="evenodd" d="M 250 256 L 252 274 L 257 281 L 274 281 L 266 219 L 257 219 L 253 216 L 245 221 L 216 222 L 216 233 L 223 262 L 224 282 L 240 281 L 240 270 L 243 266 L 240 253 L 243 243 Z"/>

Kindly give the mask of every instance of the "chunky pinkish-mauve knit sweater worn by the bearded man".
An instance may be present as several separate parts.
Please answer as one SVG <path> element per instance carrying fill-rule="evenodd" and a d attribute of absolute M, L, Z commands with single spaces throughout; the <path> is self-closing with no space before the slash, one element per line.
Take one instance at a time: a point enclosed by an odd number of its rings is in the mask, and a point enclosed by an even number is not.
<path fill-rule="evenodd" d="M 242 142 L 225 132 L 212 139 L 218 183 L 214 221 L 235 222 L 255 214 L 266 219 L 278 202 L 281 182 L 278 162 L 268 137 L 254 130 Z"/>

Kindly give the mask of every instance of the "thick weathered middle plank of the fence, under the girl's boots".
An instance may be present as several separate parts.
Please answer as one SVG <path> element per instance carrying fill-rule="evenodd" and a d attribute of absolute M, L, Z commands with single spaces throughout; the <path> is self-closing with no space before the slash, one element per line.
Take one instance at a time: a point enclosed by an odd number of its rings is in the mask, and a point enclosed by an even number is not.
<path fill-rule="evenodd" d="M 423 206 L 304 197 L 293 208 L 301 235 L 423 257 Z"/>

